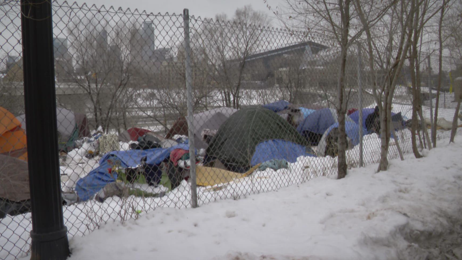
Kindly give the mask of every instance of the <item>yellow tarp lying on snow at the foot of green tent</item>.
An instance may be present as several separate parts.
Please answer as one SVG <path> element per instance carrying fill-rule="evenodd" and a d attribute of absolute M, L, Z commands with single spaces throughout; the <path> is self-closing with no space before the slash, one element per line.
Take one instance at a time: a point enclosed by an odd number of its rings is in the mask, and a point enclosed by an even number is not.
<path fill-rule="evenodd" d="M 253 173 L 260 163 L 250 168 L 246 173 L 235 173 L 219 168 L 196 166 L 196 183 L 198 186 L 214 186 L 222 183 L 228 183 L 234 179 L 240 179 Z"/>

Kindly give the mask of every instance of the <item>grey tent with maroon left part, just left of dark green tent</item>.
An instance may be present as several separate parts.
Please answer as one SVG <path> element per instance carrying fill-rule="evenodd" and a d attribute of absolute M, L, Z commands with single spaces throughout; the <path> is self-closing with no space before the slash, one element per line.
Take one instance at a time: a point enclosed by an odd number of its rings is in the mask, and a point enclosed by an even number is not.
<path fill-rule="evenodd" d="M 234 108 L 219 107 L 193 115 L 195 148 L 207 148 L 207 142 L 204 136 L 201 136 L 202 130 L 218 130 L 220 125 L 236 111 L 237 109 Z M 188 122 L 186 118 L 182 117 L 178 119 L 170 128 L 167 135 L 165 135 L 165 138 L 171 139 L 175 135 L 188 136 Z"/>

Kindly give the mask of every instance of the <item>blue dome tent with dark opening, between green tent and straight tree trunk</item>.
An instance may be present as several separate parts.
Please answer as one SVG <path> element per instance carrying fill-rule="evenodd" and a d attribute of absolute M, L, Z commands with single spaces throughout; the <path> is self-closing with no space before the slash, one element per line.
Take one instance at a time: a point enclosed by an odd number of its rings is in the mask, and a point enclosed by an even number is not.
<path fill-rule="evenodd" d="M 345 117 L 345 122 L 353 122 Z M 298 132 L 312 146 L 317 146 L 322 136 L 333 124 L 338 123 L 337 111 L 332 108 L 322 108 L 309 114 L 297 127 Z"/>

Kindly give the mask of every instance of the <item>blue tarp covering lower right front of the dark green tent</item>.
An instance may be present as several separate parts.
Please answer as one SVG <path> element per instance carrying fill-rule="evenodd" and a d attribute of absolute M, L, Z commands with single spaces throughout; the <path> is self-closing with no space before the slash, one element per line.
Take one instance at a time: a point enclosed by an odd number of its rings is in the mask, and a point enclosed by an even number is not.
<path fill-rule="evenodd" d="M 288 162 L 296 162 L 300 156 L 316 156 L 310 148 L 303 145 L 280 139 L 260 142 L 255 147 L 255 153 L 250 163 L 255 166 L 271 159 L 284 159 Z"/>

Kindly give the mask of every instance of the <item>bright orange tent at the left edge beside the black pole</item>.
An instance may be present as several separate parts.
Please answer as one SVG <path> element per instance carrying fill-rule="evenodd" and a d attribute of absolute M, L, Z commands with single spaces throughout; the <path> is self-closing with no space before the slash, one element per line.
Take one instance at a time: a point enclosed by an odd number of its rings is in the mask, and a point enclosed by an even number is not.
<path fill-rule="evenodd" d="M 0 106 L 0 154 L 27 161 L 27 141 L 21 123 Z"/>

